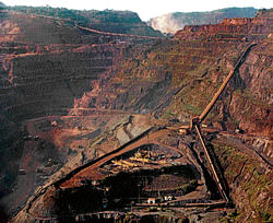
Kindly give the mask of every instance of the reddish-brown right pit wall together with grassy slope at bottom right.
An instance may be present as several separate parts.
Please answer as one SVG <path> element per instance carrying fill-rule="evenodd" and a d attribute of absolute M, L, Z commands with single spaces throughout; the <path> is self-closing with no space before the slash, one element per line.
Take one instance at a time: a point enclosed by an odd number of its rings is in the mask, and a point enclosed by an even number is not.
<path fill-rule="evenodd" d="M 96 108 L 152 113 L 168 120 L 189 121 L 201 114 L 244 49 L 256 42 L 205 121 L 222 130 L 245 132 L 237 137 L 246 144 L 228 138 L 214 143 L 238 211 L 228 218 L 239 222 L 271 221 L 271 13 L 262 19 L 187 26 L 177 33 L 177 42 L 156 43 L 141 52 L 132 50 L 115 69 L 116 74 L 102 81 L 111 92 L 96 87 L 88 102 L 93 98 L 96 103 L 92 106 Z"/>

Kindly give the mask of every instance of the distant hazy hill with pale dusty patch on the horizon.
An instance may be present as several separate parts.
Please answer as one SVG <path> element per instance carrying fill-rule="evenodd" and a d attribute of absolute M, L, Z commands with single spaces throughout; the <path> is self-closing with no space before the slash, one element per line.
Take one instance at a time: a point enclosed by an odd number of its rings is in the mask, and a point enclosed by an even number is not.
<path fill-rule="evenodd" d="M 187 25 L 217 24 L 223 19 L 253 17 L 254 8 L 228 8 L 211 12 L 175 12 L 151 19 L 147 24 L 162 33 L 175 34 Z"/>

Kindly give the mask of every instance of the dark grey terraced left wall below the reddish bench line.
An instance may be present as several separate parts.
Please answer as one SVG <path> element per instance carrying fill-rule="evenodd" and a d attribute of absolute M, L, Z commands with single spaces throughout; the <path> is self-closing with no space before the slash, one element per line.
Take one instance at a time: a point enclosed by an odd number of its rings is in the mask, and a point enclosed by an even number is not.
<path fill-rule="evenodd" d="M 93 47 L 87 51 L 41 54 L 16 57 L 2 70 L 10 77 L 1 89 L 1 110 L 10 120 L 20 122 L 45 115 L 64 115 L 74 98 L 90 91 L 111 66 L 117 48 Z M 12 78 L 11 78 L 12 75 Z M 7 83 L 7 81 L 5 81 Z"/>

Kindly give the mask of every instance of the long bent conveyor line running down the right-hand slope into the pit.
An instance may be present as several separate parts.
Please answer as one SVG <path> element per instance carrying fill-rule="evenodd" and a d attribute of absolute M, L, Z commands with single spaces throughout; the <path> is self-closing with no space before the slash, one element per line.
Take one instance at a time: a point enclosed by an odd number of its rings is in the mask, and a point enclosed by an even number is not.
<path fill-rule="evenodd" d="M 202 121 L 206 118 L 206 116 L 209 115 L 209 113 L 212 110 L 213 106 L 215 105 L 216 101 L 218 99 L 219 95 L 223 93 L 223 91 L 225 90 L 226 85 L 228 84 L 228 82 L 230 81 L 232 77 L 234 75 L 234 73 L 236 72 L 236 70 L 240 67 L 242 59 L 245 58 L 245 56 L 249 52 L 249 50 L 251 49 L 251 47 L 256 46 L 256 43 L 250 44 L 245 51 L 241 54 L 241 56 L 239 57 L 239 59 L 237 60 L 237 63 L 235 64 L 235 67 L 229 71 L 228 75 L 226 77 L 226 79 L 224 80 L 224 82 L 222 83 L 221 87 L 218 89 L 218 91 L 215 93 L 215 95 L 213 96 L 213 98 L 211 99 L 211 102 L 207 104 L 207 106 L 205 107 L 205 109 L 202 111 L 202 114 L 198 117 L 193 117 L 191 119 L 191 124 L 190 126 L 181 126 L 179 128 L 179 132 L 182 131 L 197 131 L 198 137 L 201 141 L 202 148 L 204 150 L 204 154 L 205 157 L 209 162 L 210 168 L 212 171 L 212 175 L 214 180 L 216 181 L 218 191 L 222 196 L 222 198 L 229 203 L 229 198 L 226 193 L 226 191 L 224 190 L 223 184 L 221 183 L 218 175 L 215 171 L 215 166 L 212 162 L 212 157 L 210 155 L 210 153 L 207 152 L 207 148 L 205 145 L 204 142 L 204 138 L 202 137 L 201 133 L 201 124 Z"/>

